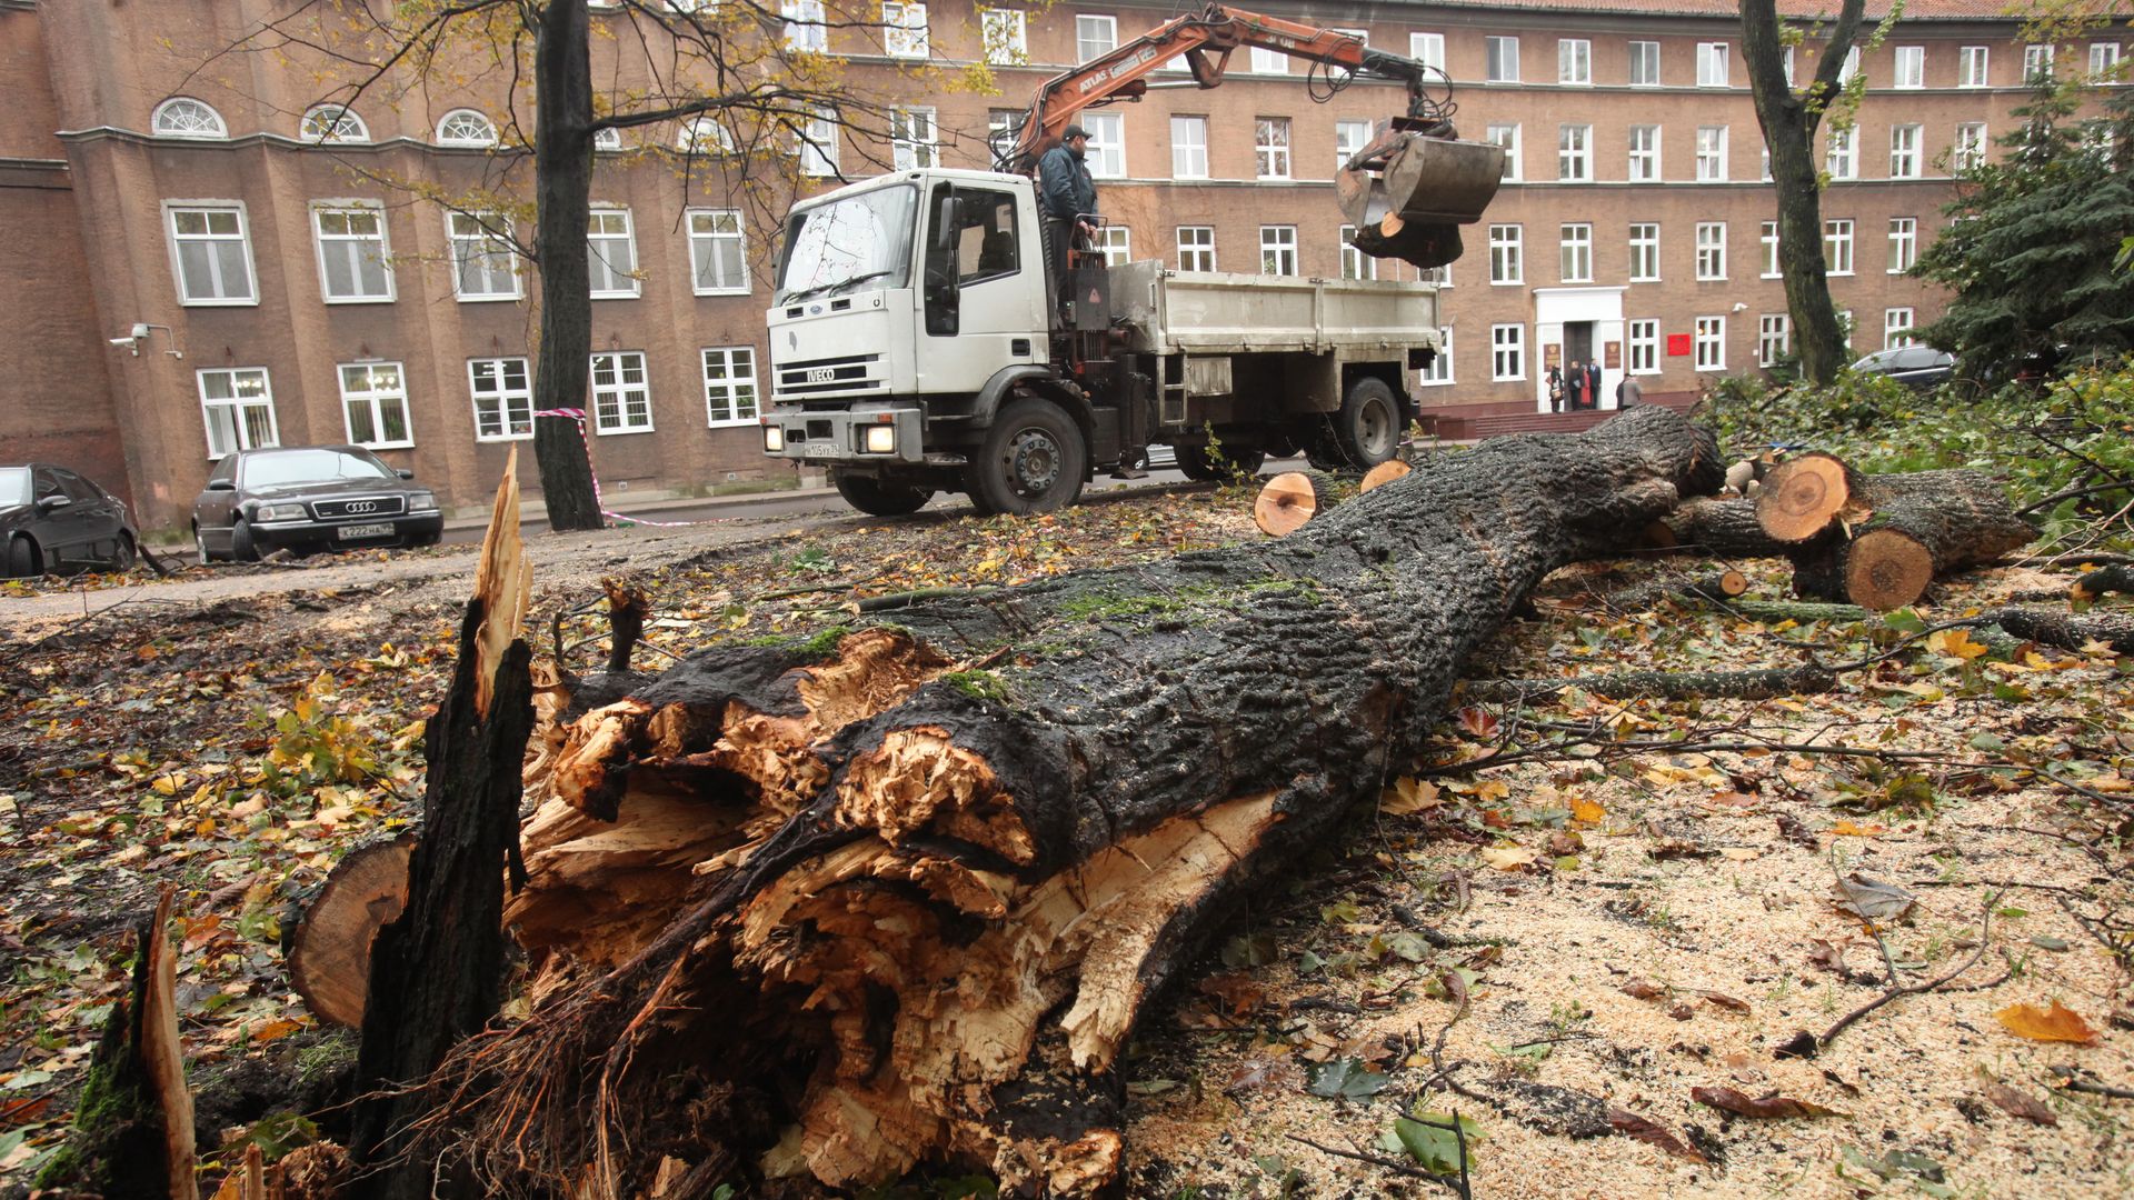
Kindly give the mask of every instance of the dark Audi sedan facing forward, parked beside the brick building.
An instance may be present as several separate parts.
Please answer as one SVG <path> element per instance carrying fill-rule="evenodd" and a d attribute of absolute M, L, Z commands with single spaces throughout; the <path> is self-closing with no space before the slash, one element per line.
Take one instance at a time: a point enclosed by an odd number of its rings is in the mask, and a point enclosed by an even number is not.
<path fill-rule="evenodd" d="M 444 512 L 412 478 L 363 446 L 239 451 L 216 463 L 192 502 L 192 547 L 201 562 L 433 547 Z"/>

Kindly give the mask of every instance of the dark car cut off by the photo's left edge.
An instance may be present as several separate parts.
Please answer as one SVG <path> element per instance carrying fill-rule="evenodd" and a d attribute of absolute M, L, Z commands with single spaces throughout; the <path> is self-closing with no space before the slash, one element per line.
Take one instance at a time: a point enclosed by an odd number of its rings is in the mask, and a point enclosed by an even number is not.
<path fill-rule="evenodd" d="M 126 502 L 51 463 L 0 468 L 0 574 L 126 570 L 141 532 Z"/>

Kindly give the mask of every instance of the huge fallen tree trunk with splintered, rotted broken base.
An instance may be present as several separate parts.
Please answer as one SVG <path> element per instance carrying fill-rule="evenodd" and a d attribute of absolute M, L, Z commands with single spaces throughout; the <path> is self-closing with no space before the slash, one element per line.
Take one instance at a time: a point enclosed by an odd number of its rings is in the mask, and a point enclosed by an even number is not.
<path fill-rule="evenodd" d="M 425 1151 L 576 1196 L 770 1142 L 764 1172 L 841 1187 L 930 1159 L 1114 1185 L 1148 999 L 1421 747 L 1547 572 L 1720 470 L 1639 408 L 1434 459 L 1280 542 L 687 660 L 580 717 L 542 781 L 508 912 L 538 1004 L 437 1072 Z"/>

